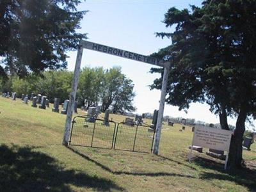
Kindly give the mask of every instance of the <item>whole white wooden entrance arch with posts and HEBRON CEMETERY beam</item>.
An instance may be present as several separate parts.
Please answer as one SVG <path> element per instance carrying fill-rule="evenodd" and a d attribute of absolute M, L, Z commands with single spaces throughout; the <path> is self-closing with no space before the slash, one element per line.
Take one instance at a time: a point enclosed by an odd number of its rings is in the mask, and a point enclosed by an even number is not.
<path fill-rule="evenodd" d="M 162 122 L 163 122 L 164 101 L 165 101 L 166 87 L 167 87 L 167 81 L 168 81 L 168 70 L 170 67 L 170 63 L 163 60 L 158 60 L 157 58 L 153 58 L 150 56 L 145 56 L 143 54 L 138 54 L 131 51 L 125 51 L 115 47 L 109 47 L 106 45 L 96 44 L 96 43 L 88 42 L 84 40 L 81 40 L 78 47 L 78 51 L 77 51 L 76 66 L 74 70 L 74 76 L 72 79 L 72 88 L 71 88 L 70 99 L 69 99 L 70 102 L 68 104 L 65 132 L 64 132 L 62 144 L 67 146 L 68 140 L 70 137 L 72 109 L 74 108 L 74 102 L 76 100 L 77 84 L 78 84 L 79 71 L 80 71 L 80 66 L 81 66 L 81 61 L 83 56 L 83 49 L 90 49 L 92 51 L 99 51 L 106 54 L 111 54 L 113 56 L 126 58 L 129 60 L 140 61 L 150 65 L 156 65 L 158 67 L 164 67 L 163 84 L 162 84 L 161 98 L 160 98 L 160 104 L 159 104 L 159 113 L 157 116 L 157 124 L 156 124 L 156 136 L 154 138 L 154 146 L 153 146 L 153 153 L 158 154 L 159 141 L 161 136 Z"/>

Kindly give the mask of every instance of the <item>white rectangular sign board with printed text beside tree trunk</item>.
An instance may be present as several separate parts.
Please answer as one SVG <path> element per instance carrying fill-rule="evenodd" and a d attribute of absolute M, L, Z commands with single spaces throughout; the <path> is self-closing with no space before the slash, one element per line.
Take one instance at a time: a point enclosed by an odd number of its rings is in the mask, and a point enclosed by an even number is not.
<path fill-rule="evenodd" d="M 232 131 L 210 127 L 195 127 L 192 145 L 229 151 Z"/>

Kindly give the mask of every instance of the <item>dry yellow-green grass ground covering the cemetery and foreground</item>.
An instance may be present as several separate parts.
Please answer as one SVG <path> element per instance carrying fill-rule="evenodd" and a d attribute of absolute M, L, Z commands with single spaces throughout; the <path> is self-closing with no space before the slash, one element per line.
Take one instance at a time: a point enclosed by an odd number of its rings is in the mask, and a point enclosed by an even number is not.
<path fill-rule="evenodd" d="M 224 161 L 205 153 L 193 152 L 188 162 L 191 127 L 180 132 L 181 125 L 164 124 L 155 156 L 66 148 L 65 115 L 3 97 L 0 111 L 0 191 L 256 191 L 255 143 L 244 150 L 246 168 L 228 174 Z M 111 118 L 122 122 L 125 116 Z"/>

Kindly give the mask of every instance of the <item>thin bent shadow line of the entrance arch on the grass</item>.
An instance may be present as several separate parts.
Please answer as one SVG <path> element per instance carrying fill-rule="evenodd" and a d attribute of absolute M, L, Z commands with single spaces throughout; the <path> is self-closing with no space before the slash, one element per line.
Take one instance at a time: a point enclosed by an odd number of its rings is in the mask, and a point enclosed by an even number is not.
<path fill-rule="evenodd" d="M 84 159 L 91 161 L 95 164 L 97 164 L 97 166 L 100 166 L 100 168 L 102 168 L 103 170 L 109 172 L 109 173 L 113 173 L 115 175 L 134 175 L 134 176 L 150 176 L 150 177 L 159 177 L 159 176 L 174 176 L 174 177 L 188 177 L 188 178 L 195 178 L 191 175 L 182 175 L 182 174 L 177 174 L 177 173 L 166 173 L 166 172 L 155 172 L 155 173 L 136 173 L 136 172 L 116 172 L 114 170 L 111 170 L 111 168 L 109 168 L 108 166 L 105 166 L 104 164 L 99 163 L 98 161 L 95 161 L 94 159 L 91 159 L 90 157 L 81 154 L 80 152 L 78 152 L 77 150 L 75 150 L 72 147 L 67 147 L 69 150 L 72 150 L 72 152 L 76 153 L 77 155 L 83 157 Z"/>

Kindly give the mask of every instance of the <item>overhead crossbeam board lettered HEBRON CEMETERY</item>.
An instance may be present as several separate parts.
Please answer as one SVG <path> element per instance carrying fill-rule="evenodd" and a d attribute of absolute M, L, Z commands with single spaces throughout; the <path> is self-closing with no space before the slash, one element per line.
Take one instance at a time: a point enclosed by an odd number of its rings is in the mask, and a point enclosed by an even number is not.
<path fill-rule="evenodd" d="M 150 56 L 145 56 L 145 55 L 138 54 L 135 52 L 124 51 L 122 49 L 117 49 L 115 47 L 109 47 L 106 45 L 95 44 L 93 42 L 88 42 L 88 41 L 84 41 L 84 40 L 81 41 L 81 45 L 83 46 L 84 49 L 90 49 L 93 51 L 104 52 L 106 54 L 112 54 L 114 56 L 127 58 L 129 60 L 135 60 L 135 61 L 148 63 L 151 65 L 165 67 L 163 60 L 158 60 L 157 58 L 152 58 Z"/>

